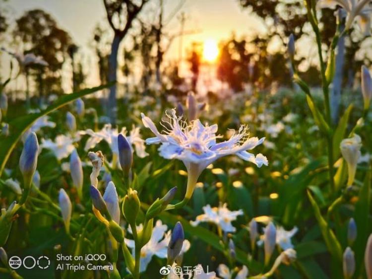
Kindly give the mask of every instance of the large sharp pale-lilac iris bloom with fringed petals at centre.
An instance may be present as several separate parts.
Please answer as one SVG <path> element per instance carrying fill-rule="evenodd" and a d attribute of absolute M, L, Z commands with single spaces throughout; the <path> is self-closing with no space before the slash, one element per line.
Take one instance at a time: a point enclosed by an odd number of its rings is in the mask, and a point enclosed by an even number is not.
<path fill-rule="evenodd" d="M 261 144 L 265 138 L 248 137 L 248 127 L 242 125 L 238 133 L 226 141 L 218 142 L 217 124 L 204 126 L 199 119 L 187 124 L 182 117 L 176 115 L 176 110 L 166 112 L 169 121 L 163 121 L 165 128 L 160 133 L 154 122 L 143 113 L 142 122 L 156 137 L 146 139 L 147 144 L 161 143 L 159 153 L 166 159 L 179 159 L 184 162 L 188 180 L 185 201 L 188 201 L 195 188 L 195 184 L 201 172 L 212 162 L 220 157 L 236 154 L 243 160 L 252 162 L 258 167 L 268 165 L 267 158 L 261 153 L 254 156 L 246 150 L 251 150 Z"/>

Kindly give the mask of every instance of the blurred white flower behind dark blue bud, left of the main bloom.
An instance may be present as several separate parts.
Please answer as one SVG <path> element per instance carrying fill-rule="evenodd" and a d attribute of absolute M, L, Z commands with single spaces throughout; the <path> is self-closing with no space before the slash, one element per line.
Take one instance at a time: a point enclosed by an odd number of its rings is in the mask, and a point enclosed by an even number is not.
<path fill-rule="evenodd" d="M 144 140 L 141 139 L 141 136 L 139 134 L 139 128 L 132 127 L 132 130 L 129 132 L 129 136 L 126 136 L 127 131 L 126 128 L 124 127 L 122 131 L 120 132 L 123 134 L 128 142 L 131 145 L 134 145 L 135 152 L 138 157 L 144 158 L 148 155 L 145 151 L 145 144 Z M 90 129 L 86 131 L 80 131 L 80 134 L 87 134 L 90 136 L 90 138 L 87 140 L 85 143 L 85 151 L 88 151 L 91 148 L 94 148 L 101 140 L 105 140 L 109 145 L 110 148 L 113 152 L 113 154 L 118 155 L 119 150 L 118 150 L 118 129 L 117 128 L 112 128 L 111 124 L 106 124 L 101 131 L 94 132 Z"/>

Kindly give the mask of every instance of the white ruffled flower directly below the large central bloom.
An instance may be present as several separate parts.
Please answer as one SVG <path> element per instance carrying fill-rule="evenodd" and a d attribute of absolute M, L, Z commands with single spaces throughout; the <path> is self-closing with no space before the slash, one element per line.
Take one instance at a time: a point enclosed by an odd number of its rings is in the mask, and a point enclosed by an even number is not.
<path fill-rule="evenodd" d="M 197 226 L 201 222 L 211 222 L 219 226 L 224 232 L 235 232 L 236 228 L 231 224 L 231 221 L 237 219 L 237 216 L 243 215 L 243 210 L 230 211 L 227 205 L 222 207 L 211 208 L 210 205 L 203 207 L 204 214 L 198 215 L 195 221 L 190 221 L 192 226 Z"/>

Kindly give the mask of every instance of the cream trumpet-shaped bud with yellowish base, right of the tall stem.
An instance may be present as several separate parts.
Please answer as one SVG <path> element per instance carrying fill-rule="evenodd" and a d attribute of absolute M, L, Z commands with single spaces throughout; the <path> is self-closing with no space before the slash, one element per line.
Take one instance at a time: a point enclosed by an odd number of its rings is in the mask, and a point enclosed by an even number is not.
<path fill-rule="evenodd" d="M 357 164 L 361 156 L 361 138 L 354 134 L 353 138 L 343 139 L 340 143 L 342 156 L 348 164 L 348 186 L 352 186 L 357 171 Z"/>

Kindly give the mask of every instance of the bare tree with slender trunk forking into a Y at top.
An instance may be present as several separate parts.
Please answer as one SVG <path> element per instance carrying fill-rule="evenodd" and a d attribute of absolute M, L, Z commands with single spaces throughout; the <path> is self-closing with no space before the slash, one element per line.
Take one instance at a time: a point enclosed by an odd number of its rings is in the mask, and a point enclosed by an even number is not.
<path fill-rule="evenodd" d="M 111 53 L 109 57 L 109 81 L 117 79 L 118 51 L 120 43 L 132 26 L 133 20 L 138 16 L 145 3 L 148 0 L 140 0 L 135 4 L 134 0 L 103 0 L 107 19 L 110 27 L 114 31 L 114 38 L 111 44 Z M 116 85 L 110 87 L 109 95 L 109 116 L 112 123 L 116 122 Z"/>

